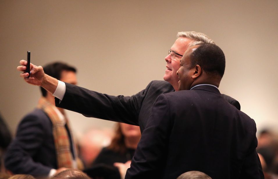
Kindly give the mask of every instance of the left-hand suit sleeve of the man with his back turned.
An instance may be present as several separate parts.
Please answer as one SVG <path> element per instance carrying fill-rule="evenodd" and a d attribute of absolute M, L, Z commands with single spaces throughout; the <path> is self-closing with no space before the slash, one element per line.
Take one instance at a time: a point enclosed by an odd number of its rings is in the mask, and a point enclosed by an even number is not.
<path fill-rule="evenodd" d="M 125 178 L 157 178 L 163 173 L 167 143 L 171 133 L 170 107 L 164 94 L 158 96 L 147 126 Z"/>

